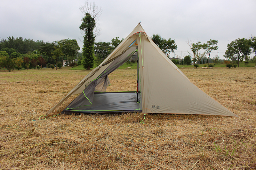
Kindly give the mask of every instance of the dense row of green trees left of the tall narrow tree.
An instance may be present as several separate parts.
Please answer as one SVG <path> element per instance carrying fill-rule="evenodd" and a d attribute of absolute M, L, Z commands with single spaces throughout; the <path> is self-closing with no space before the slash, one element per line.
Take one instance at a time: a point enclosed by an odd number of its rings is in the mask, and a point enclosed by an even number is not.
<path fill-rule="evenodd" d="M 20 40 L 20 38 L 18 38 L 18 40 Z M 26 54 L 23 54 L 18 51 L 19 49 L 16 48 L 16 46 L 11 46 L 13 42 L 14 44 L 18 44 L 18 42 L 21 41 L 16 42 L 16 39 L 14 39 L 14 41 L 2 40 L 0 42 L 2 46 L 4 44 L 4 48 L 2 48 L 0 52 L 0 68 L 6 68 L 8 71 L 11 71 L 13 68 L 17 68 L 19 70 L 21 67 L 26 69 L 35 69 L 37 65 L 40 65 L 41 67 L 45 67 L 46 64 L 57 65 L 58 62 L 62 63 L 62 59 L 65 58 L 67 61 L 69 59 L 71 61 L 70 63 L 72 63 L 80 49 L 76 40 L 65 39 L 54 41 L 52 43 L 44 43 L 43 41 L 40 41 L 41 44 L 38 49 L 34 48 Z M 26 49 L 28 48 L 31 47 L 26 47 Z M 17 63 L 17 61 L 19 62 Z M 21 64 L 20 61 L 22 61 Z"/>

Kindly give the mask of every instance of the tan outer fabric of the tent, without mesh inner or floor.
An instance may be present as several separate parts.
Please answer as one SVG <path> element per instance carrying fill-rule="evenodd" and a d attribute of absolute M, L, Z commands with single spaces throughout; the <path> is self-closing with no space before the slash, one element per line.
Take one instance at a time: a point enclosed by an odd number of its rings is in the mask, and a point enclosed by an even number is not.
<path fill-rule="evenodd" d="M 134 46 L 138 46 L 142 113 L 236 116 L 196 87 L 156 46 L 140 24 L 97 68 L 92 70 L 67 96 L 50 109 L 47 115 L 72 94 L 83 92 L 87 83 L 98 78 L 111 62 L 116 62 L 115 59 L 124 58 Z"/>

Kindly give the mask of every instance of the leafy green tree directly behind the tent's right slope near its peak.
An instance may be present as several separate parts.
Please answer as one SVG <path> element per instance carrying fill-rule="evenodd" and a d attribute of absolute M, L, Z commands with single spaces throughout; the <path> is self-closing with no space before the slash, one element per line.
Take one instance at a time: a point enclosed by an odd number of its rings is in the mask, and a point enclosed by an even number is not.
<path fill-rule="evenodd" d="M 170 57 L 170 54 L 174 53 L 174 50 L 177 49 L 175 40 L 171 40 L 171 38 L 166 40 L 158 34 L 153 34 L 151 39 L 164 52 L 164 54 L 167 55 L 168 58 Z"/>

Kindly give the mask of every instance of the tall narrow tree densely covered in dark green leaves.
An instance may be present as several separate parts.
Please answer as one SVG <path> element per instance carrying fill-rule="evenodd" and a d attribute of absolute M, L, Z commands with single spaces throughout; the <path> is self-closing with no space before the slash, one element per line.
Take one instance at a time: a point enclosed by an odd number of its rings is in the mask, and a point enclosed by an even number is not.
<path fill-rule="evenodd" d="M 80 30 L 83 30 L 84 35 L 84 47 L 82 49 L 83 52 L 83 67 L 87 70 L 94 65 L 94 41 L 95 37 L 93 34 L 93 29 L 95 28 L 95 19 L 89 13 L 85 14 L 85 17 L 82 19 L 83 23 L 79 27 Z"/>

